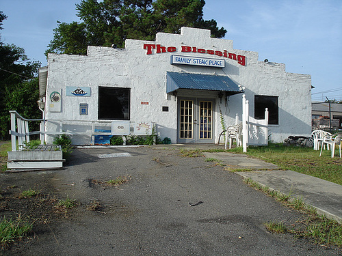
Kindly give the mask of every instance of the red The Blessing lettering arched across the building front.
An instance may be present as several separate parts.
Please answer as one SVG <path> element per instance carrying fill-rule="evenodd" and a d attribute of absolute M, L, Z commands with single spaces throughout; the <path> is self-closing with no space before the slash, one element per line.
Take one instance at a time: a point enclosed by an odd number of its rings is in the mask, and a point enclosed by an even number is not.
<path fill-rule="evenodd" d="M 161 46 L 161 44 L 144 44 L 144 50 L 147 50 L 146 54 L 150 55 L 155 53 L 176 53 L 177 48 L 175 46 Z M 153 51 L 155 50 L 155 51 Z M 246 56 L 237 55 L 235 53 L 228 53 L 228 51 L 215 51 L 211 49 L 197 48 L 195 46 L 181 46 L 181 53 L 202 53 L 208 55 L 216 55 L 218 57 L 224 57 L 237 61 L 242 66 L 246 66 Z"/>

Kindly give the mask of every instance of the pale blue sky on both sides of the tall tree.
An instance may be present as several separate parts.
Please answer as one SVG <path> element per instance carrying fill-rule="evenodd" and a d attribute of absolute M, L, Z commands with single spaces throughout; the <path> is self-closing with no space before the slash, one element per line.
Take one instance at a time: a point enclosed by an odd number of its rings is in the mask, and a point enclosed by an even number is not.
<path fill-rule="evenodd" d="M 77 21 L 81 0 L 0 0 L 1 41 L 25 49 L 42 65 L 57 20 Z M 206 0 L 204 18 L 228 32 L 234 48 L 259 60 L 285 63 L 286 71 L 311 74 L 313 100 L 342 100 L 341 0 Z"/>

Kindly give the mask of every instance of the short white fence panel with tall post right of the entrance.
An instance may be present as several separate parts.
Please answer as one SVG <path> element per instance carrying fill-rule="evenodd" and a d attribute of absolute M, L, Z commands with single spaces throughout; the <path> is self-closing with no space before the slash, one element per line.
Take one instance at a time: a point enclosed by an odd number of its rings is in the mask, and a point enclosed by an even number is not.
<path fill-rule="evenodd" d="M 255 119 L 249 114 L 249 102 L 242 96 L 242 147 L 247 152 L 248 145 L 268 145 L 268 109 L 265 119 Z"/>

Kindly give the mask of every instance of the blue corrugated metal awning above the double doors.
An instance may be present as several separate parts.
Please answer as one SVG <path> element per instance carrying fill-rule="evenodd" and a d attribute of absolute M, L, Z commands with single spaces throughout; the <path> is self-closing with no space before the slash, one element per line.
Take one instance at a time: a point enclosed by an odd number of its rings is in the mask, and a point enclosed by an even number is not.
<path fill-rule="evenodd" d="M 226 91 L 231 95 L 242 92 L 239 85 L 228 76 L 167 72 L 166 92 L 176 91 L 176 89 Z"/>

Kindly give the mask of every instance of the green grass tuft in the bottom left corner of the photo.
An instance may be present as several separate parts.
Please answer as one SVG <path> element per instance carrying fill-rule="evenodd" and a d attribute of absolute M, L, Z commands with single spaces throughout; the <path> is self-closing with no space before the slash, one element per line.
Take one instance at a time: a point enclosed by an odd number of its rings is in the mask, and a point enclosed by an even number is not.
<path fill-rule="evenodd" d="M 18 238 L 26 236 L 32 230 L 33 225 L 21 218 L 12 220 L 5 217 L 0 218 L 0 243 L 5 245 L 14 242 Z"/>

